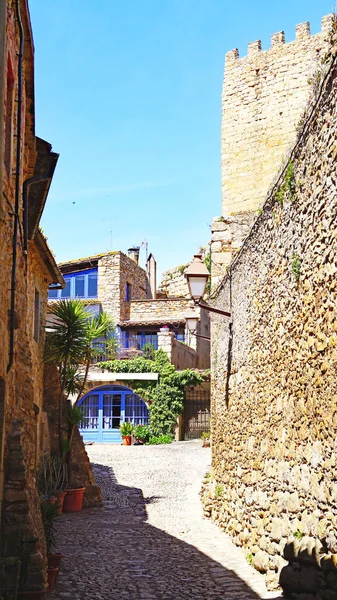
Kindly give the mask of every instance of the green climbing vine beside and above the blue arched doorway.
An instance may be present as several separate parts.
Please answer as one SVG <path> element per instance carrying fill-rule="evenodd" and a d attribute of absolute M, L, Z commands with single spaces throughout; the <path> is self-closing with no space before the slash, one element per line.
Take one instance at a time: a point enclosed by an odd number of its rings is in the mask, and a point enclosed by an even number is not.
<path fill-rule="evenodd" d="M 137 381 L 137 387 L 134 381 L 127 382 L 147 402 L 150 428 L 155 436 L 172 433 L 177 417 L 183 410 L 184 388 L 205 380 L 205 375 L 190 369 L 176 371 L 163 350 L 157 350 L 153 360 L 109 360 L 99 363 L 99 366 L 113 373 L 158 373 L 158 382 Z"/>

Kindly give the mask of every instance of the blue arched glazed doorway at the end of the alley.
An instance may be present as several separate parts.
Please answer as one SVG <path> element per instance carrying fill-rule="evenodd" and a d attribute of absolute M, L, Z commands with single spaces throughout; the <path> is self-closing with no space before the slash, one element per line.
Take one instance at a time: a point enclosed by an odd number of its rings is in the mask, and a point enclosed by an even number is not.
<path fill-rule="evenodd" d="M 149 421 L 149 409 L 144 400 L 123 385 L 94 388 L 77 406 L 83 412 L 79 429 L 85 442 L 119 444 L 122 441 L 121 423 L 146 425 Z"/>

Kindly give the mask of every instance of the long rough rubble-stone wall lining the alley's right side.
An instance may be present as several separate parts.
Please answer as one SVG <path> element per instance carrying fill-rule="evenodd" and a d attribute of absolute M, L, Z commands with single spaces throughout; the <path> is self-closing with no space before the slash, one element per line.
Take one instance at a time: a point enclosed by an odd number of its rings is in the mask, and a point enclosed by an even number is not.
<path fill-rule="evenodd" d="M 211 319 L 205 512 L 270 586 L 291 535 L 337 553 L 336 62 Z"/>

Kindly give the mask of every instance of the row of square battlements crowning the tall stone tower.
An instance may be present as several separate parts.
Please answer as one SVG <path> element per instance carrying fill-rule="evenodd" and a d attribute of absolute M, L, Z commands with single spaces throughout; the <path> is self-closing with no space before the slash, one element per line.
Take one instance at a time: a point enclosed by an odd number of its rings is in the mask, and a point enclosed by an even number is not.
<path fill-rule="evenodd" d="M 321 21 L 321 31 L 316 33 L 314 36 L 310 34 L 310 23 L 306 21 L 305 23 L 300 23 L 296 26 L 296 39 L 292 42 L 288 42 L 288 44 L 294 44 L 298 42 L 307 42 L 310 37 L 317 36 L 327 36 L 333 27 L 333 23 L 336 19 L 336 14 L 331 13 L 329 15 L 325 15 Z M 285 44 L 284 31 L 280 31 L 278 33 L 274 33 L 271 36 L 271 45 L 267 50 L 262 50 L 262 44 L 260 40 L 255 42 L 250 42 L 248 44 L 248 58 L 253 58 L 258 56 L 260 53 L 272 52 L 275 48 L 279 48 L 282 44 Z M 286 44 L 285 44 L 286 45 Z M 234 63 L 240 63 L 241 60 L 247 59 L 247 56 L 240 57 L 239 51 L 237 48 L 230 50 L 226 53 L 225 57 L 225 66 L 230 67 L 234 66 Z"/>

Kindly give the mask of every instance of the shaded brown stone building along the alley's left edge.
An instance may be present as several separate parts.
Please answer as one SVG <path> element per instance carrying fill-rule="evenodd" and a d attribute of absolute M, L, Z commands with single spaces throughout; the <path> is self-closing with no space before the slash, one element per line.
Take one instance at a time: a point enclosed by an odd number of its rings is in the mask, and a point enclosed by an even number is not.
<path fill-rule="evenodd" d="M 39 229 L 58 154 L 35 136 L 27 0 L 0 7 L 0 149 L 0 595 L 14 598 L 24 552 L 27 589 L 46 585 L 36 486 L 50 450 L 43 348 L 48 287 L 64 286 Z"/>

